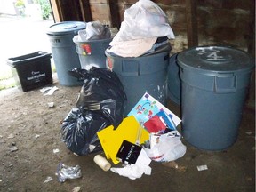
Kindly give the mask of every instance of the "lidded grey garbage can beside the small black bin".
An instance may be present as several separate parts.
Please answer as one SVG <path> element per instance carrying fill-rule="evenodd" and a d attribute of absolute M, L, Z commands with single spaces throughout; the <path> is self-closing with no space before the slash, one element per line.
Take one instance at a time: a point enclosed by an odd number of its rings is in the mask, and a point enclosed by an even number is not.
<path fill-rule="evenodd" d="M 56 67 L 59 83 L 64 86 L 81 85 L 68 70 L 81 68 L 73 37 L 78 31 L 86 28 L 86 23 L 79 21 L 64 21 L 55 23 L 48 28 L 47 35 L 52 48 L 52 58 Z"/>

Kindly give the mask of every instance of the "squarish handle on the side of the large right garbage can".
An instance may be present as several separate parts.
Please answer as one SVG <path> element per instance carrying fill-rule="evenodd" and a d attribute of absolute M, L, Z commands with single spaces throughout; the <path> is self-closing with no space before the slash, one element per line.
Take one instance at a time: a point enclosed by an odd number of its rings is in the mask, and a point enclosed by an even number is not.
<path fill-rule="evenodd" d="M 214 77 L 214 91 L 217 93 L 236 92 L 237 80 L 233 73 L 218 74 Z"/>

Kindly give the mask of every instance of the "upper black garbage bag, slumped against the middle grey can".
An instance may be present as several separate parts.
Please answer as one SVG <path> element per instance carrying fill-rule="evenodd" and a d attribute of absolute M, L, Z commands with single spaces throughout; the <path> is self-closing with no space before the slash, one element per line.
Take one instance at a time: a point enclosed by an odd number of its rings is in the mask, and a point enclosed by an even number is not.
<path fill-rule="evenodd" d="M 124 119 L 127 100 L 124 86 L 116 73 L 107 68 L 94 67 L 89 70 L 74 68 L 70 73 L 78 80 L 84 80 L 76 108 L 101 111 L 116 129 Z"/>

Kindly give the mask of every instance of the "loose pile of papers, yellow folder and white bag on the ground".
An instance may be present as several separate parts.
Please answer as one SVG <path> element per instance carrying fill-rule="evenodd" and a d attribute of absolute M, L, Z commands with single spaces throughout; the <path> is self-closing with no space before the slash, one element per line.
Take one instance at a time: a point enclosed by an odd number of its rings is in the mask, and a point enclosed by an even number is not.
<path fill-rule="evenodd" d="M 146 123 L 154 116 L 159 118 L 158 125 L 153 124 L 155 127 L 148 129 Z M 106 158 L 113 164 L 124 164 L 122 168 L 112 167 L 110 170 L 135 180 L 144 173 L 150 175 L 151 161 L 168 163 L 184 156 L 187 148 L 176 129 L 180 121 L 146 92 L 116 129 L 110 125 L 97 132 Z"/>

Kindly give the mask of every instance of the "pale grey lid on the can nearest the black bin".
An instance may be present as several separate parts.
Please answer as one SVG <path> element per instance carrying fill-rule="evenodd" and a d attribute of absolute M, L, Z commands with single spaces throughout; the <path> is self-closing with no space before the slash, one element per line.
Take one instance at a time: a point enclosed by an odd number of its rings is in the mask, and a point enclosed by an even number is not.
<path fill-rule="evenodd" d="M 68 35 L 68 34 L 73 34 L 79 30 L 82 30 L 86 28 L 86 23 L 85 22 L 80 22 L 80 21 L 64 21 L 64 22 L 59 22 L 55 23 L 52 26 L 49 27 L 47 34 L 48 35 Z"/>

